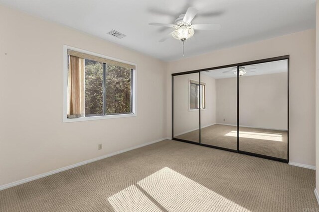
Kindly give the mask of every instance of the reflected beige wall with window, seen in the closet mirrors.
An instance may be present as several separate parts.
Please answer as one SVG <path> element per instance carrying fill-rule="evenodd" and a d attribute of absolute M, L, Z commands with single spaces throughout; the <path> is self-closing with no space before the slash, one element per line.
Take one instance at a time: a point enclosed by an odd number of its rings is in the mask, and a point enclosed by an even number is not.
<path fill-rule="evenodd" d="M 198 73 L 174 76 L 174 136 L 199 129 L 199 111 L 189 110 L 189 79 L 198 81 Z M 202 127 L 216 123 L 215 79 L 201 75 L 206 83 L 206 108 L 201 110 Z"/>

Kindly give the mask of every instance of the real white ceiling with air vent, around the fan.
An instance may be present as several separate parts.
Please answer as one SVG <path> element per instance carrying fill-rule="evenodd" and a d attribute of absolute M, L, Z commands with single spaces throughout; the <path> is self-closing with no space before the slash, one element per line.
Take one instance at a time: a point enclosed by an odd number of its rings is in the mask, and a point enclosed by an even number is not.
<path fill-rule="evenodd" d="M 182 58 L 181 42 L 158 42 L 187 7 L 193 24 L 220 23 L 220 31 L 195 31 L 185 57 L 315 28 L 316 0 L 0 0 L 0 3 L 98 36 L 164 61 Z M 110 30 L 127 35 L 118 39 Z"/>

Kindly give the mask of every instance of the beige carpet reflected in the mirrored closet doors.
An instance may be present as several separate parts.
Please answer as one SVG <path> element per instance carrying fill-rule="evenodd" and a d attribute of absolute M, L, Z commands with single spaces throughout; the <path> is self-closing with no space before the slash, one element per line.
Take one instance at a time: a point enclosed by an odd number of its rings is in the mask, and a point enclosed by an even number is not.
<path fill-rule="evenodd" d="M 287 159 L 287 131 L 240 127 L 239 149 L 257 154 Z M 199 142 L 199 130 L 178 139 Z M 201 129 L 201 142 L 224 148 L 237 149 L 237 127 L 212 125 Z"/>

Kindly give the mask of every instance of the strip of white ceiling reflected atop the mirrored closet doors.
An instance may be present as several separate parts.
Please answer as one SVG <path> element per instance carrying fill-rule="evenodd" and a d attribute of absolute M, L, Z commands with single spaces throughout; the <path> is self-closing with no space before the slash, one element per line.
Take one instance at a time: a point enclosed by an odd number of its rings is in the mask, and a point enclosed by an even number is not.
<path fill-rule="evenodd" d="M 268 63 L 245 66 L 245 69 L 252 69 L 252 70 L 247 71 L 243 76 L 254 76 L 254 75 L 262 75 L 262 74 L 287 72 L 288 60 L 273 61 Z M 228 72 L 223 73 L 224 71 L 228 71 Z M 215 79 L 222 79 L 222 78 L 237 77 L 237 75 L 234 74 L 234 71 L 236 71 L 236 67 L 216 69 L 211 71 L 202 71 L 201 74 L 205 74 Z M 254 72 L 251 72 L 251 71 L 254 71 Z"/>

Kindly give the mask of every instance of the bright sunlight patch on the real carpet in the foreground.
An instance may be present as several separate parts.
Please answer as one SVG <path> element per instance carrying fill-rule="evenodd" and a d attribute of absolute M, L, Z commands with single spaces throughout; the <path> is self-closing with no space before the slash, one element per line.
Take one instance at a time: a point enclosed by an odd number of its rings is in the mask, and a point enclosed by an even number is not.
<path fill-rule="evenodd" d="M 116 212 L 157 212 L 159 210 L 167 212 L 250 212 L 168 167 L 160 169 L 136 185 L 108 198 Z M 143 193 L 149 195 L 152 200 L 148 201 L 147 196 Z"/>

